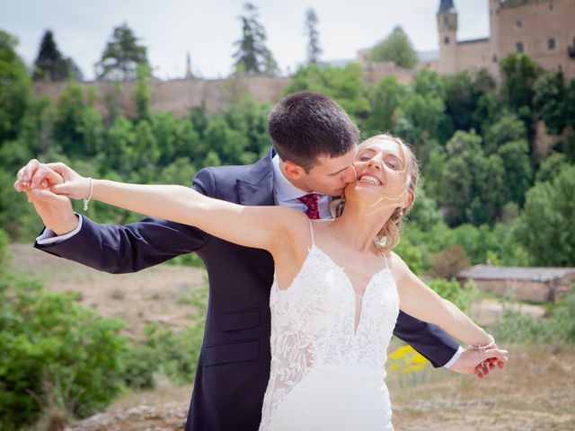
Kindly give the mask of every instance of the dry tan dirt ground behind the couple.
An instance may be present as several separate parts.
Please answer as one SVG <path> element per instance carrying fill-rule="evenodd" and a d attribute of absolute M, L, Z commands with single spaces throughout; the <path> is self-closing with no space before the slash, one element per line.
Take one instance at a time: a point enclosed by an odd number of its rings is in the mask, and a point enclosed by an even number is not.
<path fill-rule="evenodd" d="M 14 245 L 11 251 L 15 269 L 45 278 L 50 290 L 78 292 L 84 305 L 126 320 L 126 332 L 133 337 L 141 337 L 150 321 L 184 328 L 196 312 L 186 298 L 191 289 L 205 283 L 197 268 L 163 265 L 114 276 L 31 250 L 29 245 Z M 430 366 L 414 374 L 390 371 L 395 429 L 575 430 L 575 348 L 505 347 L 510 356 L 507 369 L 484 380 Z M 183 429 L 190 393 L 191 385 L 175 386 L 159 376 L 154 391 L 128 393 L 105 412 L 68 429 Z"/>

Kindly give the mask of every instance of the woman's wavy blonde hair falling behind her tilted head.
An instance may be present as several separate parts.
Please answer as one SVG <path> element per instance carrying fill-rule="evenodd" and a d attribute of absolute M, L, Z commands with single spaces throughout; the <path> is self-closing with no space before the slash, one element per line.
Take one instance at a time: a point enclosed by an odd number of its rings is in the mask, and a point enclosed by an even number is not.
<path fill-rule="evenodd" d="M 376 244 L 376 250 L 382 253 L 394 250 L 394 248 L 399 243 L 399 231 L 403 224 L 403 216 L 405 216 L 411 207 L 413 207 L 413 202 L 415 201 L 415 195 L 417 192 L 417 182 L 420 179 L 420 168 L 418 166 L 415 154 L 411 151 L 410 145 L 403 142 L 403 140 L 397 136 L 381 134 L 372 136 L 369 139 L 363 141 L 358 146 L 358 150 L 361 150 L 362 146 L 373 144 L 379 140 L 391 140 L 397 143 L 403 153 L 403 159 L 405 160 L 405 166 L 403 167 L 403 172 L 405 175 L 405 190 L 411 195 L 411 201 L 406 207 L 396 207 L 392 215 L 387 219 L 384 226 L 381 228 L 379 233 L 374 240 Z M 335 198 L 332 201 L 331 211 L 332 217 L 339 217 L 343 213 L 345 207 L 345 198 Z"/>

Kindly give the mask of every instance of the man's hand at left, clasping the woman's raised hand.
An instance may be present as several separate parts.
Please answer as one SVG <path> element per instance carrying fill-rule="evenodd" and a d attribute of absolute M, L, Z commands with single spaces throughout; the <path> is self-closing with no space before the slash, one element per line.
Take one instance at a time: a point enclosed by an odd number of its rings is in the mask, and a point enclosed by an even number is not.
<path fill-rule="evenodd" d="M 14 189 L 28 195 L 29 202 L 34 206 L 42 222 L 58 236 L 74 231 L 79 223 L 70 199 L 48 192 L 63 183 L 61 175 L 36 159 L 32 159 L 22 167 L 14 182 Z"/>

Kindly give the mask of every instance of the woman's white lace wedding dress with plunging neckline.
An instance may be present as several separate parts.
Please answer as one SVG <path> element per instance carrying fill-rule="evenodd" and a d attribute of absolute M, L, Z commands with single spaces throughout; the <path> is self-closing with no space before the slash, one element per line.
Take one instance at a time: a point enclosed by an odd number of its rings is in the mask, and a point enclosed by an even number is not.
<path fill-rule="evenodd" d="M 286 290 L 271 288 L 271 367 L 260 431 L 393 430 L 386 350 L 399 298 L 385 259 L 356 328 L 356 294 L 314 242 Z"/>

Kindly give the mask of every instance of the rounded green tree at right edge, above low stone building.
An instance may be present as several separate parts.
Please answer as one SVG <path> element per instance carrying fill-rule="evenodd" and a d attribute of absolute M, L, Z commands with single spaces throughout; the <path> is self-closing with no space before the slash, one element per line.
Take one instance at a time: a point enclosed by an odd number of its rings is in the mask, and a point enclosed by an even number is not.
<path fill-rule="evenodd" d="M 563 165 L 551 181 L 535 183 L 526 193 L 516 240 L 533 257 L 533 264 L 575 266 L 575 166 Z"/>

